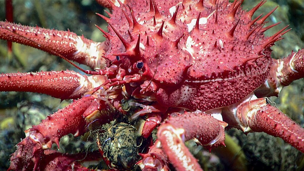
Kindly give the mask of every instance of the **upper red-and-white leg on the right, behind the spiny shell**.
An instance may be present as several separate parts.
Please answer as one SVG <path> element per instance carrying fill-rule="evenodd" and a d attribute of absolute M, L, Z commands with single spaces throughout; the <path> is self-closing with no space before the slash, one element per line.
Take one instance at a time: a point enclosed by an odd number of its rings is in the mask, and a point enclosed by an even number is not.
<path fill-rule="evenodd" d="M 273 59 L 265 84 L 255 90 L 257 97 L 277 96 L 284 86 L 304 78 L 304 49 L 283 59 Z"/>

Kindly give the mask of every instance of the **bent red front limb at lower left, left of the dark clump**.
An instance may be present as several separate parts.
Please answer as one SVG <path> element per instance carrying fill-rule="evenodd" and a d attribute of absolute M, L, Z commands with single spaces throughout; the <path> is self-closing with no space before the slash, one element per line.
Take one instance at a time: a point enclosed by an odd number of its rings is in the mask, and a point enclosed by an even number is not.
<path fill-rule="evenodd" d="M 17 150 L 12 154 L 9 170 L 40 170 L 45 149 L 51 148 L 53 143 L 59 148 L 59 140 L 64 135 L 85 133 L 86 122 L 82 114 L 94 99 L 93 96 L 78 99 L 26 130 L 26 138 L 17 144 Z"/>

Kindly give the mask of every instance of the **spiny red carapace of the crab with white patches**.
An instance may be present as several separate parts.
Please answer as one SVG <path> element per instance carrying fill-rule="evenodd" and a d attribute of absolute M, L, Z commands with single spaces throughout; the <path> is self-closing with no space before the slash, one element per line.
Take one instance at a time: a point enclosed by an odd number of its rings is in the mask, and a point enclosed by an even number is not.
<path fill-rule="evenodd" d="M 237 103 L 264 83 L 272 64 L 270 47 L 288 31 L 284 27 L 264 37 L 278 24 L 263 27 L 275 9 L 251 19 L 264 3 L 248 12 L 241 1 L 146 1 L 130 5 L 133 9 L 120 3 L 110 18 L 103 17 L 112 24 L 106 35 L 108 58 L 128 56 L 140 37 L 140 55 L 130 60 L 146 63 L 150 74 L 143 80 L 160 86 L 155 93 L 159 103 L 190 110 Z"/>

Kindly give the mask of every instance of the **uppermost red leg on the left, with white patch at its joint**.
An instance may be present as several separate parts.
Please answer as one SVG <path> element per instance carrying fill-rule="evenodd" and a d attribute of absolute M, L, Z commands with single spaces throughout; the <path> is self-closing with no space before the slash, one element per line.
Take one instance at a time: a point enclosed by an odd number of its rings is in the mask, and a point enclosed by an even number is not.
<path fill-rule="evenodd" d="M 24 38 L 26 37 L 26 38 Z M 0 22 L 0 39 L 35 47 L 53 55 L 87 65 L 92 69 L 105 67 L 105 44 L 94 42 L 70 31 L 58 31 L 41 27 L 22 26 Z"/>

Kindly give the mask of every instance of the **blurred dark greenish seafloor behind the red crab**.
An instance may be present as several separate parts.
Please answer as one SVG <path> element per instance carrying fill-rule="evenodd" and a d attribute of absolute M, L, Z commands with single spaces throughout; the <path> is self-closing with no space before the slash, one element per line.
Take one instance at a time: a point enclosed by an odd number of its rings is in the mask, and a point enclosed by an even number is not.
<path fill-rule="evenodd" d="M 251 9 L 258 1 L 243 3 L 243 9 Z M 259 9 L 254 18 L 262 12 L 268 13 L 275 6 L 279 8 L 269 17 L 268 25 L 282 21 L 281 24 L 266 32 L 272 35 L 290 24 L 291 31 L 283 40 L 272 47 L 273 57 L 288 56 L 292 50 L 304 47 L 304 1 L 268 1 Z M 13 1 L 14 21 L 23 25 L 42 26 L 57 30 L 71 30 L 78 35 L 94 41 L 103 41 L 102 33 L 94 26 L 105 29 L 103 19 L 95 12 L 104 13 L 95 1 Z M 0 1 L 0 20 L 5 20 L 4 1 Z M 84 68 L 84 65 L 80 65 Z M 35 72 L 51 70 L 76 70 L 59 57 L 20 44 L 13 44 L 13 55 L 7 56 L 6 42 L 0 40 L 0 72 Z M 304 127 L 304 80 L 300 79 L 285 87 L 279 97 L 271 97 L 272 105 Z M 24 138 L 23 131 L 33 124 L 39 124 L 46 115 L 62 108 L 71 101 L 63 101 L 46 95 L 25 92 L 0 92 L 0 170 L 9 167 L 9 155 L 15 145 Z M 227 147 L 219 147 L 211 153 L 201 146 L 187 145 L 199 159 L 205 171 L 210 170 L 302 170 L 304 155 L 286 144 L 282 139 L 264 133 L 250 133 L 247 136 L 240 130 L 226 131 L 230 137 Z M 60 152 L 85 152 L 96 148 L 92 141 L 65 136 L 60 141 Z M 73 142 L 73 143 L 71 143 Z M 101 168 L 99 168 L 101 169 Z"/>

